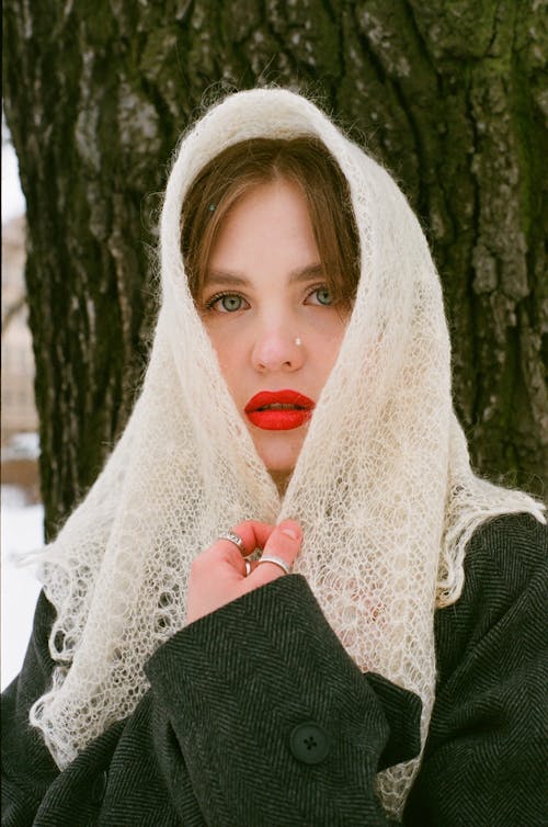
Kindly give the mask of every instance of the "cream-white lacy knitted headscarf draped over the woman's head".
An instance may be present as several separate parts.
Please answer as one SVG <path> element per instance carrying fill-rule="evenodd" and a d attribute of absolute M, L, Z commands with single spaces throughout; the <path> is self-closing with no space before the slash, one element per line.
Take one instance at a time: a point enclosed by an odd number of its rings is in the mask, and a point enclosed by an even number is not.
<path fill-rule="evenodd" d="M 362 262 L 338 361 L 281 499 L 194 307 L 180 219 L 191 183 L 221 149 L 300 135 L 319 138 L 349 181 Z M 470 471 L 452 409 L 438 277 L 404 196 L 309 101 L 286 90 L 240 92 L 181 144 L 162 212 L 161 277 L 140 397 L 94 486 L 42 553 L 57 666 L 32 723 L 66 767 L 146 692 L 144 664 L 184 625 L 191 560 L 241 520 L 290 517 L 305 537 L 295 571 L 361 669 L 422 698 L 424 743 L 434 609 L 460 594 L 466 542 L 495 514 L 544 518 L 526 495 Z M 410 761 L 378 777 L 392 816 L 416 768 Z"/>

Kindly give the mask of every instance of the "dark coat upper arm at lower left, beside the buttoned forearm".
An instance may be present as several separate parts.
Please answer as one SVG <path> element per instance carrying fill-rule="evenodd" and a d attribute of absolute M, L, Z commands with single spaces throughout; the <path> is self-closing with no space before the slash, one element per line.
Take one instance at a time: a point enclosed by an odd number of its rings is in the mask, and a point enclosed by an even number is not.
<path fill-rule="evenodd" d="M 179 827 L 163 774 L 164 764 L 174 762 L 174 750 L 150 692 L 129 718 L 110 727 L 62 772 L 41 733 L 30 726 L 30 709 L 52 680 L 48 636 L 54 618 L 42 593 L 23 668 L 2 693 L 2 827 Z M 183 824 L 203 827 L 182 760 L 178 770 L 186 808 Z"/>

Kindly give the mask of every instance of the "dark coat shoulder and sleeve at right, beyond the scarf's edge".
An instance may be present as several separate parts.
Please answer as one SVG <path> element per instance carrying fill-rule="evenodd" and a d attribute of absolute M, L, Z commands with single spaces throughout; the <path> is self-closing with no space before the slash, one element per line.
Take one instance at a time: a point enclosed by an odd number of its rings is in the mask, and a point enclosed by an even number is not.
<path fill-rule="evenodd" d="M 438 686 L 406 825 L 547 824 L 548 531 L 507 516 L 472 537 L 436 616 Z"/>

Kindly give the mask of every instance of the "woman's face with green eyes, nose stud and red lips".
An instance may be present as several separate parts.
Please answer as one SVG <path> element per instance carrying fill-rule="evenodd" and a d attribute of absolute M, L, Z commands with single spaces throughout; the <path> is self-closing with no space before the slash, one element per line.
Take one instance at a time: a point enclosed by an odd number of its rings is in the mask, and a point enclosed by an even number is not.
<path fill-rule="evenodd" d="M 283 488 L 346 326 L 297 184 L 260 184 L 227 213 L 198 306 L 256 451 Z"/>

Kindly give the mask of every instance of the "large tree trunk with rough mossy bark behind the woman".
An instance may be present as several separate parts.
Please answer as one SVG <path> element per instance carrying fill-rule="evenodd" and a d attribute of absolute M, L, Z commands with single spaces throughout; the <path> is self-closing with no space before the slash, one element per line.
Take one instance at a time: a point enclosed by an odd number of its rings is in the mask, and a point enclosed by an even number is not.
<path fill-rule="evenodd" d="M 5 0 L 49 536 L 95 478 L 142 376 L 158 193 L 179 134 L 204 93 L 264 82 L 312 94 L 400 181 L 441 272 L 473 463 L 541 492 L 539 5 Z"/>

